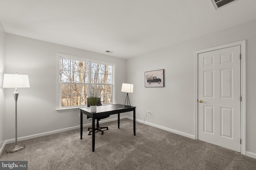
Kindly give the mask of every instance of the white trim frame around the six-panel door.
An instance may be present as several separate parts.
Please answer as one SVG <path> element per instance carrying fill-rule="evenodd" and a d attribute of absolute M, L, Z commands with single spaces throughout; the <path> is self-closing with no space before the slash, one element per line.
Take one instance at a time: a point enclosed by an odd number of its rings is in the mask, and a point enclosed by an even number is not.
<path fill-rule="evenodd" d="M 240 45 L 241 47 L 241 154 L 246 154 L 246 41 L 237 41 L 234 43 L 228 43 L 224 45 L 219 45 L 216 47 L 211 47 L 208 49 L 202 49 L 195 51 L 194 53 L 194 77 L 195 77 L 195 90 L 194 90 L 194 114 L 195 114 L 195 139 L 198 140 L 198 54 L 205 53 L 208 51 L 214 51 L 218 49 L 228 48 Z"/>

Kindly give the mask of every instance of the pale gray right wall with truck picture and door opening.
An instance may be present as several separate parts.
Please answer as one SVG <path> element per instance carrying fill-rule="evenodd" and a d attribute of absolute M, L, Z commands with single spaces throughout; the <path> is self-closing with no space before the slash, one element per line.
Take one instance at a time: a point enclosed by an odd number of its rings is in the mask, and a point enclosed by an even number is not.
<path fill-rule="evenodd" d="M 134 84 L 130 101 L 136 117 L 178 133 L 195 135 L 194 52 L 246 40 L 246 150 L 256 158 L 256 20 L 127 61 L 127 82 Z M 171 38 L 171 37 L 170 37 Z M 164 69 L 164 88 L 145 88 L 144 72 Z M 250 156 L 252 156 L 250 155 Z"/>

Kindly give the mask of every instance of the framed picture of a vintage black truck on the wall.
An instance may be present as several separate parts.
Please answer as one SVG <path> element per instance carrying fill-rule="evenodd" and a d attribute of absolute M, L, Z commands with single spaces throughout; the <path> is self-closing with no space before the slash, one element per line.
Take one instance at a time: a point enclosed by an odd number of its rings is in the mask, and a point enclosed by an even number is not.
<path fill-rule="evenodd" d="M 144 73 L 145 87 L 164 87 L 164 69 Z"/>

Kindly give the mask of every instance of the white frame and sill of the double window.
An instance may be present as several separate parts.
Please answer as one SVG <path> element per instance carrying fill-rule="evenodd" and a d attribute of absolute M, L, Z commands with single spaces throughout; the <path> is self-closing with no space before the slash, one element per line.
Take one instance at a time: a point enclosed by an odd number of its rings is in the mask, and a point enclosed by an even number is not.
<path fill-rule="evenodd" d="M 97 64 L 106 64 L 106 65 L 112 65 L 112 103 L 107 103 L 107 104 L 114 104 L 115 103 L 115 68 L 116 68 L 116 64 L 115 63 L 109 63 L 106 61 L 98 61 L 98 60 L 94 60 L 94 59 L 87 59 L 87 58 L 83 58 L 83 57 L 77 57 L 77 56 L 73 56 L 73 55 L 67 55 L 67 54 L 62 54 L 62 53 L 58 53 L 57 54 L 57 111 L 65 111 L 65 110 L 72 110 L 72 109 L 78 109 L 79 107 L 85 107 L 85 105 L 80 105 L 80 106 L 68 106 L 68 107 L 62 107 L 61 106 L 61 88 L 60 88 L 60 58 L 64 58 L 64 59 L 72 59 L 72 60 L 78 60 L 78 61 L 85 61 L 85 62 L 89 62 L 89 77 L 88 77 L 88 83 L 86 84 L 95 84 L 95 83 L 91 83 L 91 63 L 97 63 Z M 100 84 L 97 83 L 97 85 L 104 85 L 104 84 Z M 108 84 L 111 85 L 111 84 Z M 104 104 L 102 104 L 104 105 Z"/>

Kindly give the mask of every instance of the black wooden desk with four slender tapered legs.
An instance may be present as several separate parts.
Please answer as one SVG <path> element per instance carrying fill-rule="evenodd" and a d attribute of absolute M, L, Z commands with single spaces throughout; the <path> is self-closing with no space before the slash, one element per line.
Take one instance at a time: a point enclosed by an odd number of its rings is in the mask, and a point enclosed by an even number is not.
<path fill-rule="evenodd" d="M 92 118 L 92 152 L 94 152 L 95 148 L 95 119 L 97 117 L 102 117 L 106 115 L 114 115 L 118 114 L 118 129 L 120 125 L 120 113 L 133 111 L 133 133 L 134 136 L 136 135 L 136 122 L 135 122 L 135 108 L 132 107 L 124 107 L 122 104 L 109 104 L 109 105 L 103 105 L 103 106 L 97 106 L 97 112 L 91 113 L 90 107 L 81 107 L 80 109 L 80 139 L 82 139 L 83 135 L 83 114 L 89 116 Z"/>

